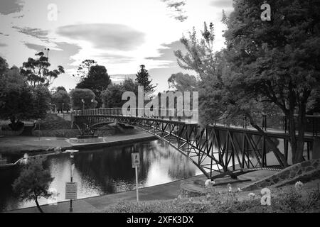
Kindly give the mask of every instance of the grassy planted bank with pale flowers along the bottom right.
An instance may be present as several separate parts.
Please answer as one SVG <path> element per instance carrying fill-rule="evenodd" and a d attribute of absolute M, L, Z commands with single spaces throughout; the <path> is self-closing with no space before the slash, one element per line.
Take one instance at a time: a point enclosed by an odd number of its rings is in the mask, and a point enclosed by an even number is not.
<path fill-rule="evenodd" d="M 113 213 L 305 213 L 320 212 L 320 192 L 317 179 L 301 189 L 294 185 L 272 188 L 271 205 L 262 206 L 260 191 L 208 192 L 207 196 L 146 201 L 139 206 L 133 201 L 119 201 L 102 212 Z M 251 193 L 251 194 L 250 194 Z M 250 195 L 249 195 L 250 194 Z M 253 196 L 254 194 L 254 196 Z"/>

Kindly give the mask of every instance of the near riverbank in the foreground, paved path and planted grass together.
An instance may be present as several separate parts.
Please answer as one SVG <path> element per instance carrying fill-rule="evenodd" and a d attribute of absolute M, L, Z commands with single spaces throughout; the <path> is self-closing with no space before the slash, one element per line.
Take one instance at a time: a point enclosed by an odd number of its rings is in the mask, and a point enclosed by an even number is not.
<path fill-rule="evenodd" d="M 226 184 L 215 186 L 210 197 L 196 196 L 183 198 L 179 196 L 180 185 L 186 181 L 203 181 L 203 175 L 178 180 L 167 184 L 139 189 L 139 206 L 136 202 L 136 191 L 107 194 L 73 201 L 73 212 L 154 212 L 154 213 L 190 213 L 190 212 L 319 212 L 320 194 L 319 179 L 307 182 L 302 192 L 296 192 L 294 185 L 274 188 L 271 190 L 271 206 L 262 206 L 260 190 L 239 192 L 238 188 L 246 187 L 261 177 L 271 176 L 274 172 L 261 170 L 243 175 L 250 182 L 235 182 L 232 192 Z M 255 194 L 254 197 L 249 194 Z M 41 206 L 46 213 L 68 213 L 69 201 L 59 202 L 58 205 Z M 38 213 L 36 207 L 7 211 L 10 213 Z"/>

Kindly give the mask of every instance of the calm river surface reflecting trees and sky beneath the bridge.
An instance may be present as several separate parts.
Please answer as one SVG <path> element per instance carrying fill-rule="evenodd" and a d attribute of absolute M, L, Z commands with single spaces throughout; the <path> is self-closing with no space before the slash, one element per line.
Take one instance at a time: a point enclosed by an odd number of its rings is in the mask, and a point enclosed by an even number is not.
<path fill-rule="evenodd" d="M 150 187 L 201 174 L 187 157 L 161 140 L 100 150 L 81 150 L 74 157 L 73 181 L 78 182 L 78 199 L 135 189 L 132 152 L 139 152 L 142 157 L 139 187 Z M 1 159 L 14 162 L 20 157 L 23 155 L 2 155 Z M 58 201 L 65 200 L 65 182 L 70 181 L 70 163 L 68 154 L 48 156 L 45 162 L 45 167 L 55 177 L 50 188 L 59 193 Z M 21 165 L 0 169 L 0 211 L 35 206 L 34 201 L 18 201 L 18 196 L 12 192 L 11 184 L 20 171 Z M 39 202 L 48 204 L 48 200 L 43 198 Z"/>

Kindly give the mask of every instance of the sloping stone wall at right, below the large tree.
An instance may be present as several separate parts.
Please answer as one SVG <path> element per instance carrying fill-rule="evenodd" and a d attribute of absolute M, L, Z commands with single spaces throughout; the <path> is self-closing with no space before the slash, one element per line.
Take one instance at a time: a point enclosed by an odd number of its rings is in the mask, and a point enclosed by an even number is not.
<path fill-rule="evenodd" d="M 261 179 L 255 183 L 243 188 L 244 191 L 262 189 L 264 187 L 281 187 L 286 184 L 294 184 L 295 182 L 309 182 L 312 179 L 320 178 L 320 159 L 307 160 L 286 169 L 277 172 L 276 174 Z"/>

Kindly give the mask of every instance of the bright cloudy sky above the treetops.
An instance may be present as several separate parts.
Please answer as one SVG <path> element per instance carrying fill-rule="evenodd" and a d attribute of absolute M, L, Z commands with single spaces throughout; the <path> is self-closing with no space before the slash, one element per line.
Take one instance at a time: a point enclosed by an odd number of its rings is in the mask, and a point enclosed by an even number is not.
<path fill-rule="evenodd" d="M 114 82 L 143 64 L 161 92 L 171 74 L 185 72 L 174 50 L 183 50 L 178 40 L 193 26 L 213 22 L 215 50 L 223 48 L 223 9 L 230 13 L 232 0 L 0 0 L 0 55 L 20 67 L 50 48 L 52 67 L 66 71 L 53 86 L 67 89 L 85 59 L 105 65 Z"/>

